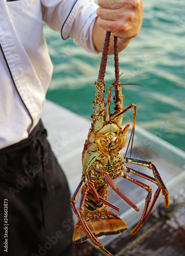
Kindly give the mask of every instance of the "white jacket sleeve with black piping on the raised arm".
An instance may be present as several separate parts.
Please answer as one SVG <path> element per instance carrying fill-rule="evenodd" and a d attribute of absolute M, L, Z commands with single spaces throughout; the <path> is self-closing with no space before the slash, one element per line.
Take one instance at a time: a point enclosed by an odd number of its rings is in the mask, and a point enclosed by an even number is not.
<path fill-rule="evenodd" d="M 96 53 L 92 32 L 97 5 L 94 0 L 41 0 L 43 22 L 61 33 L 63 39 L 72 37 L 77 45 Z"/>

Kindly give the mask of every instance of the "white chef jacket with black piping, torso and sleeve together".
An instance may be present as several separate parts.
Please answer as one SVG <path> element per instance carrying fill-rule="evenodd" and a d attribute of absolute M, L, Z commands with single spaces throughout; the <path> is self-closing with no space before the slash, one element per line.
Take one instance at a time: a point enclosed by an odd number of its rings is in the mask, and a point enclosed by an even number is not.
<path fill-rule="evenodd" d="M 0 1 L 0 148 L 28 138 L 52 76 L 43 23 L 96 52 L 93 0 Z"/>

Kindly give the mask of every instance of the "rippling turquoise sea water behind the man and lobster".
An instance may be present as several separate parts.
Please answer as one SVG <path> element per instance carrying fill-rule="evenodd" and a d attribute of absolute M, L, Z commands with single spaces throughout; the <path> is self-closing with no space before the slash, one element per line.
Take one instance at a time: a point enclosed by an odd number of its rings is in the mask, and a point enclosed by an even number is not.
<path fill-rule="evenodd" d="M 147 90 L 124 86 L 124 106 L 137 104 L 136 124 L 185 151 L 185 2 L 143 2 L 141 33 L 119 60 L 121 82 L 140 83 Z M 101 55 L 85 52 L 46 27 L 44 34 L 54 63 L 46 97 L 90 119 Z M 107 87 L 114 81 L 113 56 L 105 80 Z M 132 121 L 132 114 L 125 114 L 125 122 Z"/>

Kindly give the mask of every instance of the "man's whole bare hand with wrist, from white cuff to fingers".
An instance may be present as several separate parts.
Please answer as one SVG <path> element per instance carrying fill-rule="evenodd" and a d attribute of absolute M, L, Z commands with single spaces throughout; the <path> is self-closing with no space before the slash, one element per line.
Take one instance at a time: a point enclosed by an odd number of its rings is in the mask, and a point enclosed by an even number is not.
<path fill-rule="evenodd" d="M 98 0 L 97 19 L 93 30 L 96 49 L 103 49 L 106 31 L 118 37 L 118 49 L 122 51 L 141 29 L 143 8 L 142 0 Z M 111 38 L 110 52 L 113 53 Z"/>

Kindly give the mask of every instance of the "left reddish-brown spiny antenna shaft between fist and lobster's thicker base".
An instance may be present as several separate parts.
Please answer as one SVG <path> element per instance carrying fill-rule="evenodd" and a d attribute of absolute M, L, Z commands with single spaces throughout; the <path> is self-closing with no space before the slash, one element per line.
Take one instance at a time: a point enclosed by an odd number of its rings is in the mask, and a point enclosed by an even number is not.
<path fill-rule="evenodd" d="M 104 40 L 104 47 L 103 47 L 103 52 L 101 56 L 101 63 L 100 63 L 99 74 L 97 79 L 97 81 L 100 83 L 104 82 L 104 75 L 105 75 L 105 70 L 107 66 L 107 59 L 108 59 L 108 52 L 109 52 L 109 45 L 110 45 L 110 36 L 111 36 L 111 32 L 107 31 L 105 40 Z"/>

